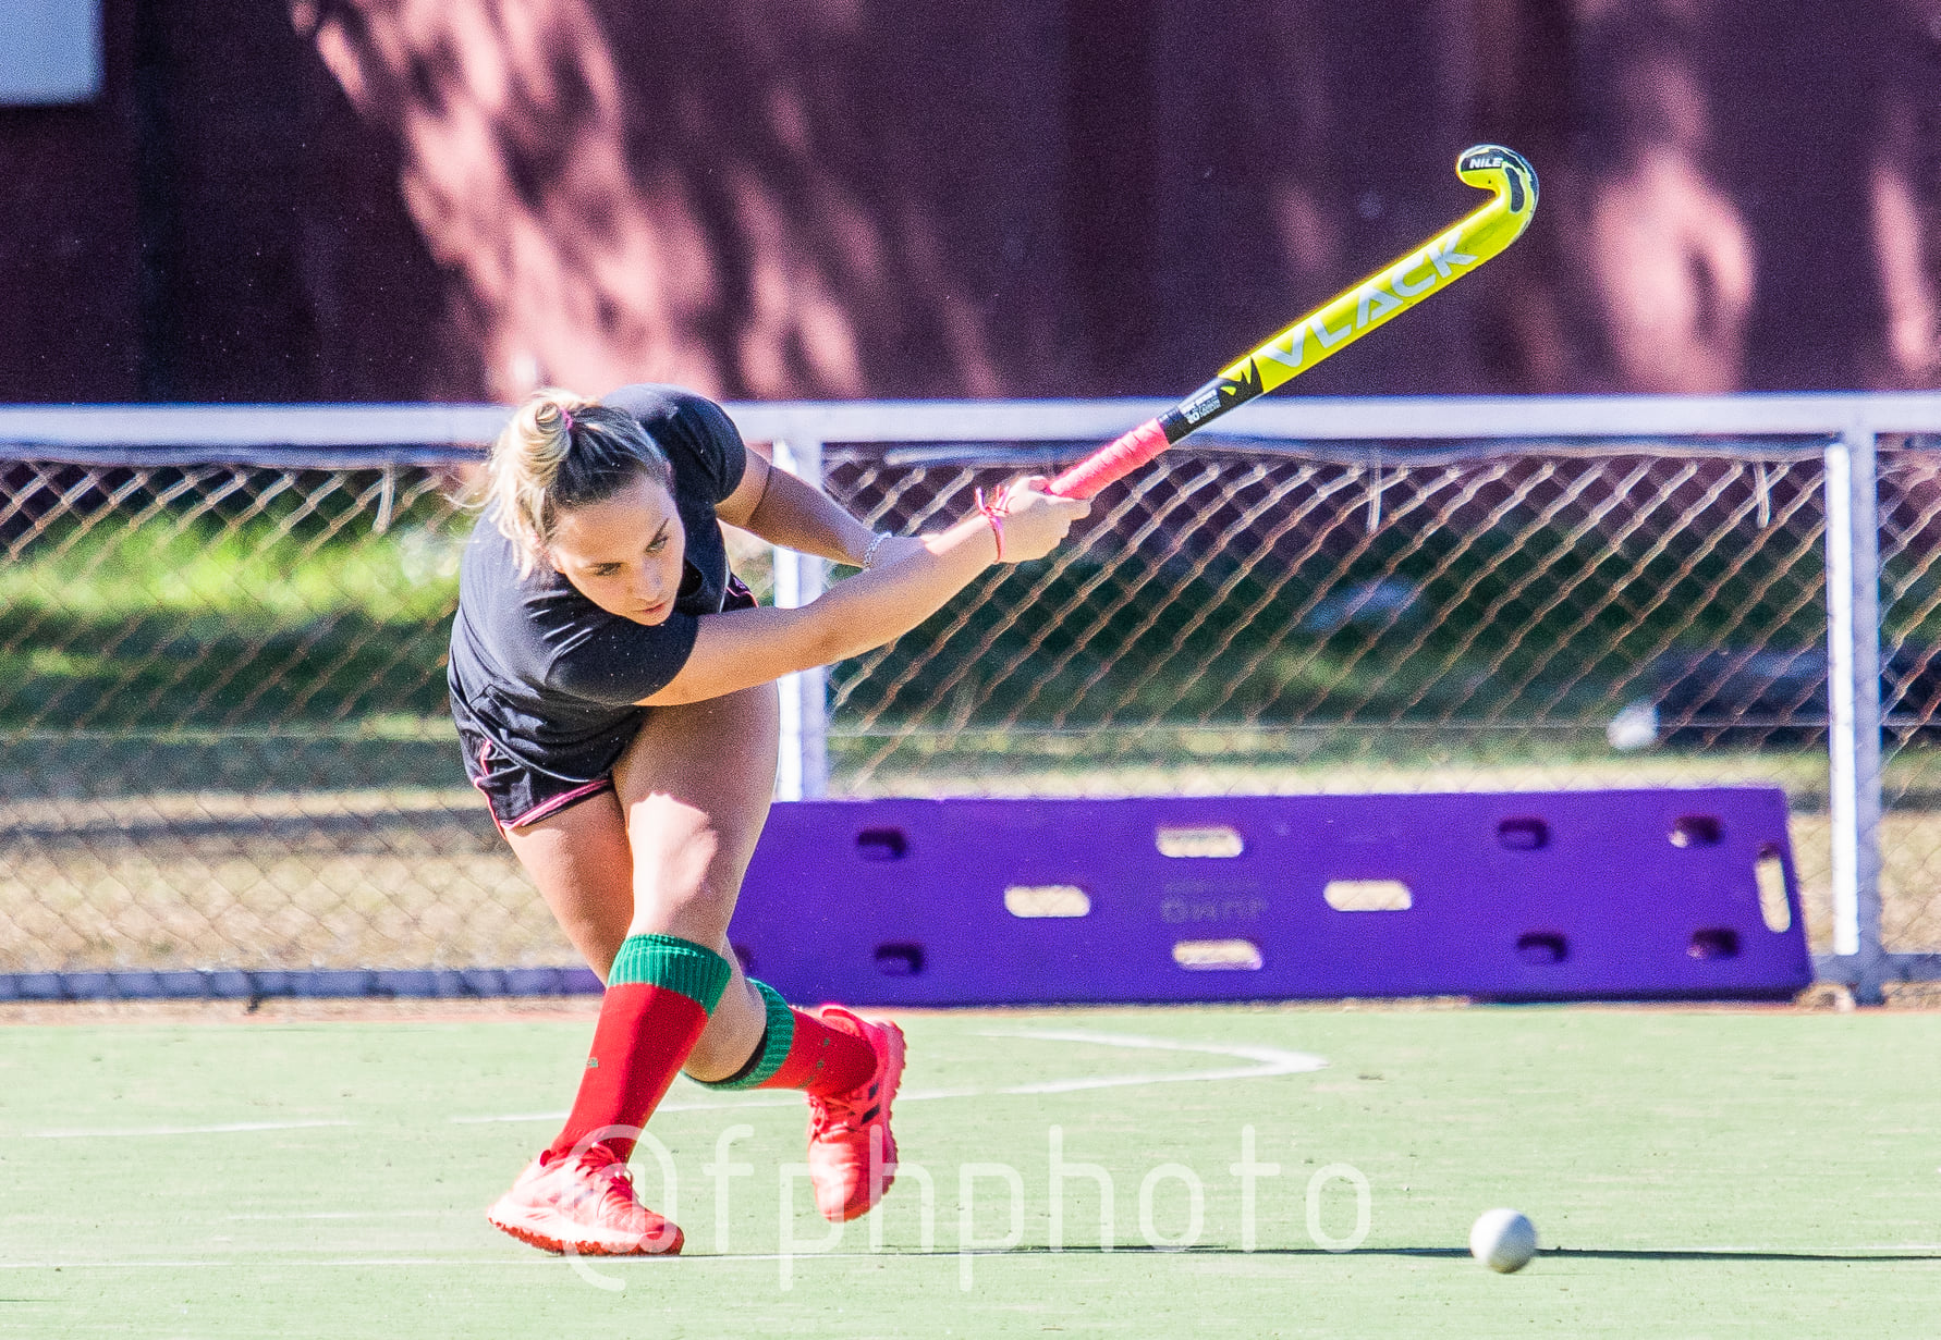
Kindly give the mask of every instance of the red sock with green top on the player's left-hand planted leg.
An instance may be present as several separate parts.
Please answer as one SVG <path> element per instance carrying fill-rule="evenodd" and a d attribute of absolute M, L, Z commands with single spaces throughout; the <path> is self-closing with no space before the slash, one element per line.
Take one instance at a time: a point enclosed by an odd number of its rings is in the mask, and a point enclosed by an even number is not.
<path fill-rule="evenodd" d="M 629 937 L 608 973 L 578 1098 L 547 1154 L 582 1140 L 621 1158 L 633 1154 L 639 1129 L 695 1049 L 732 975 L 728 960 L 693 941 Z"/>

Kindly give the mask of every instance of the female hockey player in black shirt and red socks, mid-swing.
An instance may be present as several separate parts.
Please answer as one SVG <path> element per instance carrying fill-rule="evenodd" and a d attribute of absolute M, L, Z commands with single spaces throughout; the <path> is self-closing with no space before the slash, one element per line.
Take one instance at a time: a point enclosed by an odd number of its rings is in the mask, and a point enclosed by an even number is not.
<path fill-rule="evenodd" d="M 1050 553 L 1087 504 L 1021 481 L 949 529 L 875 535 L 666 386 L 547 390 L 499 434 L 460 572 L 452 716 L 466 770 L 567 937 L 606 979 L 559 1136 L 487 1218 L 549 1251 L 677 1253 L 627 1158 L 677 1070 L 809 1103 L 815 1204 L 889 1187 L 903 1034 L 790 1008 L 728 944 L 774 789 L 774 681 L 879 648 L 994 562 Z M 763 609 L 718 522 L 860 568 Z"/>

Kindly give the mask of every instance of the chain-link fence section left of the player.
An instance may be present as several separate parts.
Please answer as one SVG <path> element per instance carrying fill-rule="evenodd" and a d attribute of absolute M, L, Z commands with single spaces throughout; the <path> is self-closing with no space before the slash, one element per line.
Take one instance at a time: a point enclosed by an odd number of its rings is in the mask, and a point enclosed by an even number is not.
<path fill-rule="evenodd" d="M 0 968 L 571 960 L 443 716 L 454 485 L 6 469 Z"/>

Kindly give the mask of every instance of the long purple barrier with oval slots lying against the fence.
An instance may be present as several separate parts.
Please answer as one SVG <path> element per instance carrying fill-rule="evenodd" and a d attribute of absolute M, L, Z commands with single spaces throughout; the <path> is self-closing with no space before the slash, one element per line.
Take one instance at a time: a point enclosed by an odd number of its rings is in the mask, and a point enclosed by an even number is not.
<path fill-rule="evenodd" d="M 1161 828 L 1242 849 L 1163 855 Z M 1760 859 L 1784 869 L 1786 931 L 1762 919 Z M 1339 911 L 1332 880 L 1399 880 L 1411 906 Z M 1091 909 L 1019 917 L 1011 886 Z M 730 939 L 784 997 L 850 1005 L 1772 999 L 1813 979 L 1786 797 L 1764 787 L 798 801 L 769 816 Z M 1182 968 L 1182 941 L 1258 968 Z"/>

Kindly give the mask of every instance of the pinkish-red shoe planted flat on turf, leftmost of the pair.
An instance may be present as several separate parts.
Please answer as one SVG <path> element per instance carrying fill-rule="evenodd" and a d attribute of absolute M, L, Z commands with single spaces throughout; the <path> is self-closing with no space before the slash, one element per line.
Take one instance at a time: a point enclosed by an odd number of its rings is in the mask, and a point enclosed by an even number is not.
<path fill-rule="evenodd" d="M 540 1154 L 485 1218 L 522 1243 L 582 1257 L 675 1257 L 683 1241 L 641 1204 L 627 1164 L 604 1144 Z"/>

